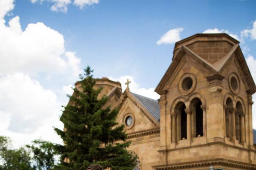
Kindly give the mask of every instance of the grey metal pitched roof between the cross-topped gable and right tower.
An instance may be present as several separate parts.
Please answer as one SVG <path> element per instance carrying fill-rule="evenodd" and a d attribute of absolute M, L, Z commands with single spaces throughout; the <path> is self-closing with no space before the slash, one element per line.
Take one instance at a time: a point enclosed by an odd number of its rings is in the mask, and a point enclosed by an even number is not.
<path fill-rule="evenodd" d="M 160 121 L 160 106 L 157 100 L 150 99 L 139 94 L 131 93 L 136 99 L 138 99 L 142 105 L 148 110 L 148 112 L 155 118 L 157 121 Z"/>

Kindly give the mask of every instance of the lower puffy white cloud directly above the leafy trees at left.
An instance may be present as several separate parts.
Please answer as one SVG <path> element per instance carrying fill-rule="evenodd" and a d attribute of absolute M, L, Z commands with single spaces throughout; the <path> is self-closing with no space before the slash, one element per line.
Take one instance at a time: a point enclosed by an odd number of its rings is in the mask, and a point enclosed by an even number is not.
<path fill-rule="evenodd" d="M 52 128 L 61 127 L 61 104 L 53 91 L 28 75 L 15 73 L 0 76 L 0 94 L 0 135 L 21 145 L 40 137 L 61 142 Z"/>

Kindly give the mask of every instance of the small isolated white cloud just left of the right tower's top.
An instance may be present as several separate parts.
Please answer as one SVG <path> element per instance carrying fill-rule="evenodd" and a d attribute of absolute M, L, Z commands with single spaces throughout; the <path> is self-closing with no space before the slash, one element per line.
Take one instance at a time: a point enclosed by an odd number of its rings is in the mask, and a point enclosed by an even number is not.
<path fill-rule="evenodd" d="M 157 45 L 160 44 L 172 44 L 180 40 L 180 32 L 182 32 L 183 28 L 175 28 L 167 31 L 160 40 L 157 41 Z"/>

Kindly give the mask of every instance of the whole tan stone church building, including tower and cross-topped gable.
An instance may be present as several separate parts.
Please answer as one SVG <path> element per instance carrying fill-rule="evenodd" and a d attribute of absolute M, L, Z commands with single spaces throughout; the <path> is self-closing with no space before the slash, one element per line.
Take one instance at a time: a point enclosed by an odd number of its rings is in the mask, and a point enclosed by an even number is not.
<path fill-rule="evenodd" d="M 129 82 L 127 82 L 128 85 Z M 154 100 L 108 78 L 96 79 L 119 108 L 136 170 L 256 170 L 252 94 L 256 85 L 239 41 L 195 34 L 176 42 Z M 254 137 L 256 137 L 254 135 Z"/>

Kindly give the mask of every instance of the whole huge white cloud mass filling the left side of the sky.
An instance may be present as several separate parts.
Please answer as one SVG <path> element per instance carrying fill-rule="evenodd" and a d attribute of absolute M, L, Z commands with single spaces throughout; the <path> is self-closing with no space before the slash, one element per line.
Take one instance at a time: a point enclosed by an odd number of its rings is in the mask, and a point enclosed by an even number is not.
<path fill-rule="evenodd" d="M 5 24 L 13 8 L 14 0 L 0 0 L 0 135 L 10 136 L 15 146 L 38 138 L 61 143 L 52 126 L 63 128 L 64 92 L 31 77 L 78 77 L 80 59 L 65 50 L 63 35 L 44 23 L 30 23 L 23 31 L 16 16 Z"/>

